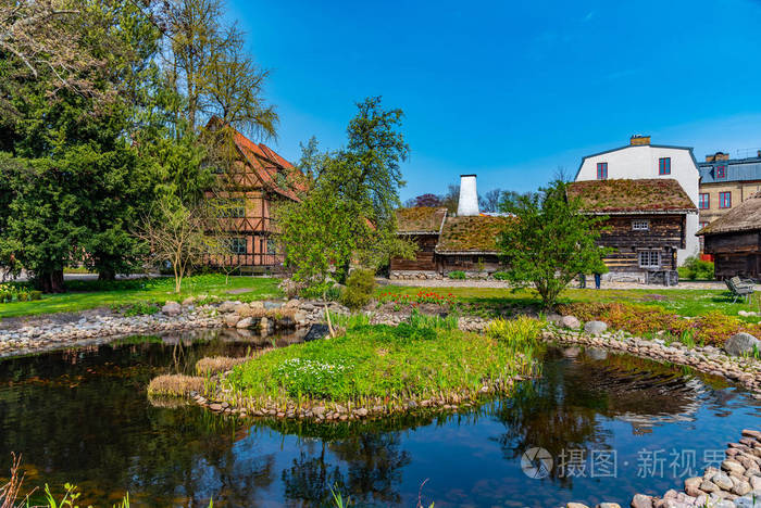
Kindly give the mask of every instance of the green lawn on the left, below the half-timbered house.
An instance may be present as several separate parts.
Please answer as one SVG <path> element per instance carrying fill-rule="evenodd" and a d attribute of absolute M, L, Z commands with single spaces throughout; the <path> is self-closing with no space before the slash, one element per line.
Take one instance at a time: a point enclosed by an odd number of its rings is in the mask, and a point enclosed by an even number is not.
<path fill-rule="evenodd" d="M 0 304 L 0 318 L 33 316 L 49 313 L 71 313 L 96 307 L 127 305 L 138 302 L 163 304 L 169 300 L 182 301 L 200 294 L 223 296 L 229 300 L 253 301 L 282 296 L 277 289 L 279 279 L 260 277 L 229 277 L 201 275 L 183 281 L 183 292 L 174 292 L 174 279 L 135 279 L 114 282 L 66 281 L 68 292 L 46 294 L 35 302 Z M 233 291 L 233 293 L 230 293 Z"/>

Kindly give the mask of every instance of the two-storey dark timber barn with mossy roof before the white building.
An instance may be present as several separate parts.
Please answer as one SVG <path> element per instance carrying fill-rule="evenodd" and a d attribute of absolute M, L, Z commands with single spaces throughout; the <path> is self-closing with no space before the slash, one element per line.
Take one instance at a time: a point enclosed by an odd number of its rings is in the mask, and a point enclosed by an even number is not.
<path fill-rule="evenodd" d="M 606 216 L 598 244 L 610 280 L 678 282 L 676 253 L 687 243 L 687 216 L 698 209 L 678 181 L 665 178 L 569 183 L 584 214 Z"/>

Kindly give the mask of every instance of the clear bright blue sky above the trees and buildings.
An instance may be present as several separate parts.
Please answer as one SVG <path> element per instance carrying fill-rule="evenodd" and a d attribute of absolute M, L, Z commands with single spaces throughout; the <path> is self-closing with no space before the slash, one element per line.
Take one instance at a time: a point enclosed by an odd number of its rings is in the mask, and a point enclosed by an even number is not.
<path fill-rule="evenodd" d="M 632 134 L 707 153 L 761 148 L 761 1 L 228 0 L 271 71 L 273 145 L 339 148 L 354 102 L 406 113 L 401 198 L 525 191 Z M 753 150 L 753 153 L 754 153 Z"/>

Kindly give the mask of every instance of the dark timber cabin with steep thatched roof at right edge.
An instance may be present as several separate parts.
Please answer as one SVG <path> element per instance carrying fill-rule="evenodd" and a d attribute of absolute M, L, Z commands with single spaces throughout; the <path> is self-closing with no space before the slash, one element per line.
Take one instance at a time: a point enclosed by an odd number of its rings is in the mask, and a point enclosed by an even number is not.
<path fill-rule="evenodd" d="M 713 255 L 716 279 L 761 277 L 761 192 L 700 231 L 703 252 Z"/>

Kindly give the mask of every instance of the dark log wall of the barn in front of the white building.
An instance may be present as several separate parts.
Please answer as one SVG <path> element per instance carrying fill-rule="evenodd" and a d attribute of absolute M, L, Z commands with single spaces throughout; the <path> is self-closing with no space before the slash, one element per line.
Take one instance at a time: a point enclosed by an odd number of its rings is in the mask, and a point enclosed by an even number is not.
<path fill-rule="evenodd" d="M 685 216 L 611 216 L 602 225 L 598 244 L 614 249 L 604 258 L 611 272 L 676 270 L 676 251 L 685 244 Z M 643 266 L 640 252 L 657 253 L 649 259 L 658 256 L 658 266 Z"/>

